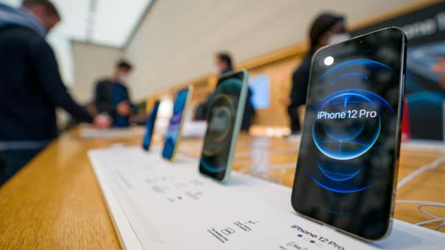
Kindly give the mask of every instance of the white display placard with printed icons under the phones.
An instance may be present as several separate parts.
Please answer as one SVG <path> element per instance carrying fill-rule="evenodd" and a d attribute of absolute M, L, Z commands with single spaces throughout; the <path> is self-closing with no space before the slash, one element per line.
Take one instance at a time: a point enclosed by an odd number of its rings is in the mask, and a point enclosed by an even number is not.
<path fill-rule="evenodd" d="M 399 220 L 386 240 L 357 240 L 297 216 L 288 187 L 236 173 L 220 185 L 196 159 L 136 147 L 89 156 L 126 249 L 445 249 L 444 234 Z"/>

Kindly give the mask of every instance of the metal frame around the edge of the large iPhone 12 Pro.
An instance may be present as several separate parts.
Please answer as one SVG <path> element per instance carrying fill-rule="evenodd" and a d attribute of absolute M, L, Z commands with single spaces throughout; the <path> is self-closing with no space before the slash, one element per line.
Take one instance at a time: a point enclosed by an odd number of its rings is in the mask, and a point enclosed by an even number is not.
<path fill-rule="evenodd" d="M 292 195 L 290 196 L 290 199 L 291 199 L 290 202 L 291 202 L 295 212 L 298 213 L 299 216 L 302 216 L 304 218 L 308 218 L 309 220 L 313 220 L 313 221 L 317 222 L 318 224 L 322 224 L 324 226 L 327 226 L 327 227 L 330 227 L 332 229 L 335 229 L 336 231 L 341 231 L 342 233 L 346 233 L 349 236 L 353 236 L 355 238 L 359 238 L 360 240 L 364 240 L 364 241 L 367 241 L 367 242 L 377 242 L 379 240 L 383 240 L 384 238 L 387 238 L 389 236 L 389 234 L 390 234 L 390 232 L 392 230 L 393 217 L 394 217 L 394 208 L 395 208 L 395 194 L 396 194 L 396 190 L 397 190 L 397 173 L 399 171 L 400 140 L 401 140 L 401 137 L 402 137 L 402 114 L 403 114 L 404 91 L 405 91 L 406 50 L 408 48 L 408 45 L 406 43 L 407 39 L 406 39 L 406 35 L 404 34 L 403 30 L 400 29 L 400 28 L 397 28 L 397 27 L 383 28 L 383 29 L 380 29 L 380 30 L 376 30 L 374 32 L 369 32 L 369 33 L 362 34 L 360 36 L 352 38 L 352 39 L 360 39 L 360 38 L 366 37 L 366 36 L 368 36 L 370 34 L 374 34 L 374 33 L 377 33 L 377 32 L 382 32 L 382 31 L 388 30 L 388 29 L 395 29 L 398 32 L 401 32 L 401 34 L 402 34 L 402 48 L 401 48 L 402 49 L 402 56 L 401 56 L 401 61 L 400 61 L 401 68 L 400 68 L 400 76 L 399 76 L 399 79 L 400 79 L 400 82 L 399 82 L 399 98 L 398 98 L 398 101 L 399 101 L 399 103 L 398 103 L 399 106 L 398 107 L 399 107 L 399 109 L 397 110 L 397 127 L 395 129 L 396 144 L 395 144 L 395 150 L 394 150 L 394 156 L 393 156 L 394 157 L 394 165 L 392 166 L 393 167 L 393 189 L 391 191 L 392 195 L 390 196 L 390 199 L 391 199 L 390 200 L 390 211 L 389 211 L 390 214 L 389 214 L 389 221 L 388 221 L 388 227 L 386 229 L 386 232 L 384 233 L 384 235 L 381 238 L 377 238 L 377 239 L 367 239 L 367 238 L 363 238 L 363 237 L 357 236 L 354 233 L 350 233 L 348 231 L 344 231 L 342 229 L 334 227 L 333 225 L 329 225 L 329 224 L 327 224 L 325 222 L 316 220 L 315 218 L 311 218 L 311 217 L 306 216 L 306 215 L 304 215 L 302 213 L 299 213 L 297 211 L 297 209 L 295 208 L 295 205 L 293 204 L 294 189 L 292 190 Z M 350 40 L 352 40 L 352 39 L 350 39 Z M 315 58 L 317 57 L 317 54 L 319 52 L 321 52 L 322 50 L 324 50 L 326 48 L 329 48 L 330 46 L 334 46 L 334 45 L 324 46 L 322 48 L 319 48 L 319 50 L 317 50 L 314 53 L 314 55 L 312 57 L 312 61 L 310 62 L 311 67 L 310 67 L 310 73 L 309 73 L 309 83 L 308 83 L 308 92 L 306 93 L 306 100 L 308 100 L 308 97 L 309 97 L 310 84 L 312 83 L 312 78 L 313 78 L 312 65 L 314 65 L 314 63 L 315 63 Z M 305 118 L 304 118 L 305 121 L 306 121 L 307 114 L 308 113 L 306 112 Z M 301 134 L 303 134 L 303 133 L 304 133 L 304 126 L 303 126 L 303 129 L 301 129 Z M 300 144 L 300 147 L 301 147 L 301 144 Z M 300 152 L 300 150 L 299 150 L 299 152 Z M 297 169 L 297 171 L 298 171 L 298 169 Z M 295 171 L 295 174 L 297 174 L 297 171 Z"/>

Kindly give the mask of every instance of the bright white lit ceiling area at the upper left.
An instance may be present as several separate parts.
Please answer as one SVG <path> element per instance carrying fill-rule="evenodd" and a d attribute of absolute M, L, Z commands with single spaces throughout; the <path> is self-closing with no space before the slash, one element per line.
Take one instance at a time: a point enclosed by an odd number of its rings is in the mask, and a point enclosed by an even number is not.
<path fill-rule="evenodd" d="M 0 0 L 19 8 L 22 0 Z M 96 2 L 95 12 L 90 4 Z M 71 40 L 121 48 L 150 5 L 151 0 L 52 0 L 62 21 L 48 34 L 48 42 L 55 50 L 63 81 L 73 83 L 74 68 Z M 91 14 L 91 16 L 90 16 Z M 89 18 L 92 20 L 88 20 Z M 88 37 L 87 30 L 91 29 Z"/>

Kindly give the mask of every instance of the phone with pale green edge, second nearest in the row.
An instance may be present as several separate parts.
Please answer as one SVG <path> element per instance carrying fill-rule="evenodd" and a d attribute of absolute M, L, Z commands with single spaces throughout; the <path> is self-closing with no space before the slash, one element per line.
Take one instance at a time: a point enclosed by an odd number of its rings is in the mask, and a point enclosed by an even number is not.
<path fill-rule="evenodd" d="M 217 82 L 208 104 L 207 131 L 199 172 L 225 183 L 232 170 L 233 154 L 246 105 L 246 70 L 229 72 Z"/>

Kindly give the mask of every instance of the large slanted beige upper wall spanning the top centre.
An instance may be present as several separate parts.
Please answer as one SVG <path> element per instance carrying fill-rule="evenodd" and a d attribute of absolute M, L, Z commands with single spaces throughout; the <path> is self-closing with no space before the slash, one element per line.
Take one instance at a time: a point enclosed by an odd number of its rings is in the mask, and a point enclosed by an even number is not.
<path fill-rule="evenodd" d="M 357 23 L 413 0 L 156 0 L 126 57 L 137 99 L 210 73 L 219 50 L 246 61 L 306 40 L 308 25 L 323 10 Z"/>

